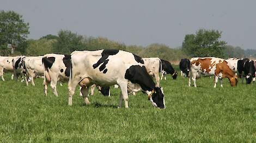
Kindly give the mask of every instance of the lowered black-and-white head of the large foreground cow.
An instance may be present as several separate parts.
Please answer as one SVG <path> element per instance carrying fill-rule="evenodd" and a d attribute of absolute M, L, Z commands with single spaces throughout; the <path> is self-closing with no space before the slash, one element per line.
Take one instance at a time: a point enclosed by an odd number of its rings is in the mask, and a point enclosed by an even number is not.
<path fill-rule="evenodd" d="M 154 91 L 149 95 L 149 100 L 151 101 L 154 107 L 160 109 L 166 108 L 162 87 L 155 87 Z"/>

